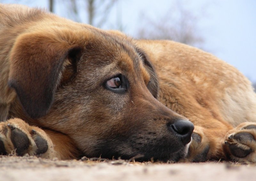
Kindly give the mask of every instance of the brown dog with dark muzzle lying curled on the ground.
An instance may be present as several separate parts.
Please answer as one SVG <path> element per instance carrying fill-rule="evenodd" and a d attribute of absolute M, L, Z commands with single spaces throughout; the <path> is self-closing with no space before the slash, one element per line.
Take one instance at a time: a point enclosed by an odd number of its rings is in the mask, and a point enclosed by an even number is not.
<path fill-rule="evenodd" d="M 0 85 L 2 154 L 256 162 L 251 83 L 180 43 L 0 4 Z"/>

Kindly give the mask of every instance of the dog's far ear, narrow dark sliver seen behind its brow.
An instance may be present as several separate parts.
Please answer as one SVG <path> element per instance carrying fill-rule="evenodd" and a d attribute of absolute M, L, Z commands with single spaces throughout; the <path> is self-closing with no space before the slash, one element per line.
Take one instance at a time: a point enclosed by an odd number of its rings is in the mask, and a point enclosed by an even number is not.
<path fill-rule="evenodd" d="M 147 86 L 148 90 L 154 96 L 154 98 L 157 98 L 157 96 L 158 96 L 158 78 L 156 75 L 156 71 L 155 71 L 153 65 L 149 62 L 148 56 L 143 52 L 143 50 L 137 48 L 137 52 L 140 55 L 140 57 L 144 63 L 144 66 L 150 75 L 150 80 L 149 80 L 149 83 Z"/>

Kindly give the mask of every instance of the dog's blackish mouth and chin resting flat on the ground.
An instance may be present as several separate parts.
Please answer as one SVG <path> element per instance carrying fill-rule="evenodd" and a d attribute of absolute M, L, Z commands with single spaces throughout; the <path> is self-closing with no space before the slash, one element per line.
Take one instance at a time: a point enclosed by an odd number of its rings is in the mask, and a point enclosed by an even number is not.
<path fill-rule="evenodd" d="M 108 140 L 101 141 L 101 145 L 98 145 L 97 148 L 94 149 L 93 154 L 86 154 L 86 156 L 101 157 L 107 159 L 134 159 L 139 162 L 152 160 L 161 162 L 177 162 L 180 158 L 185 158 L 188 155 L 188 148 L 190 143 L 191 141 L 186 145 L 170 143 L 153 145 L 148 142 L 144 145 L 141 145 L 134 144 L 134 142 L 128 140 L 125 142 L 120 140 Z"/>

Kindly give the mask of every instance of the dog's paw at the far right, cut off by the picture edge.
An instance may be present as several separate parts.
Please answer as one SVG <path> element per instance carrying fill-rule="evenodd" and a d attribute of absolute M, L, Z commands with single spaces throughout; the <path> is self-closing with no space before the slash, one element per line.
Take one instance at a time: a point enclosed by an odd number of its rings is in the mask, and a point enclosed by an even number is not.
<path fill-rule="evenodd" d="M 256 163 L 256 123 L 245 122 L 225 136 L 228 156 L 238 162 Z"/>

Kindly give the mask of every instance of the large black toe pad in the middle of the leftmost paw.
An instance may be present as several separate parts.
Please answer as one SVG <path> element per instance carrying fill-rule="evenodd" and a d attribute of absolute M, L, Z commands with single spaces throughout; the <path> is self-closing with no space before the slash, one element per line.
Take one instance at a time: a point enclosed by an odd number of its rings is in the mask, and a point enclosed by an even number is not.
<path fill-rule="evenodd" d="M 16 148 L 16 154 L 18 156 L 24 155 L 29 147 L 29 139 L 27 135 L 20 129 L 14 128 L 11 133 L 11 140 L 14 148 Z"/>

